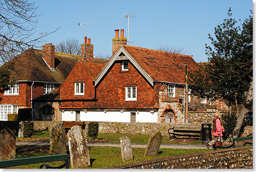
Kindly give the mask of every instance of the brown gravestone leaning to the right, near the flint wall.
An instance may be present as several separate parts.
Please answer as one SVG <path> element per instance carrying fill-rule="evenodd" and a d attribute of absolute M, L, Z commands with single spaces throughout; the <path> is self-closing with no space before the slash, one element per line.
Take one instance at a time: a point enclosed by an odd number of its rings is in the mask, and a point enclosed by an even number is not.
<path fill-rule="evenodd" d="M 162 143 L 161 132 L 156 131 L 153 136 L 150 136 L 147 148 L 144 156 L 156 155 L 159 152 L 160 145 Z"/>

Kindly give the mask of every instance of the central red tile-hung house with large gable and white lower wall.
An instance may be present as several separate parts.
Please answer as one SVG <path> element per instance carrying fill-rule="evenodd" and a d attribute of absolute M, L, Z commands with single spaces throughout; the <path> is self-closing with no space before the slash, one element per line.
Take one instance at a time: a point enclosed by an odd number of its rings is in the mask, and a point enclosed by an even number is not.
<path fill-rule="evenodd" d="M 59 119 L 183 123 L 184 65 L 198 68 L 192 57 L 128 46 L 123 29 L 112 41 L 106 64 L 78 61 L 63 82 Z"/>

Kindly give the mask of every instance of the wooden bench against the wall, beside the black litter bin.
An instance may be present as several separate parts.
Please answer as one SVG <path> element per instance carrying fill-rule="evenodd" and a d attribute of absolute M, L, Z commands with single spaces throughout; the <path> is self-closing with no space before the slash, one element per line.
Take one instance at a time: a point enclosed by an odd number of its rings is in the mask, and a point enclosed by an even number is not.
<path fill-rule="evenodd" d="M 201 125 L 197 124 L 174 124 L 173 128 L 168 129 L 169 139 L 176 135 L 198 137 L 201 136 Z"/>

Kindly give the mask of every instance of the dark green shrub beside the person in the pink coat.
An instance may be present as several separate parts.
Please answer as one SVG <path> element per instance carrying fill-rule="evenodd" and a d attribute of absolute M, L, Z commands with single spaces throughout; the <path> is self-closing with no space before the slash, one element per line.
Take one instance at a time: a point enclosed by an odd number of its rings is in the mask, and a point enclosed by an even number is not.
<path fill-rule="evenodd" d="M 229 113 L 223 113 L 222 117 L 222 126 L 224 128 L 224 132 L 223 132 L 223 139 L 227 139 L 228 136 L 234 131 L 235 129 L 235 125 L 236 125 L 236 114 L 235 113 L 231 113 L 231 115 Z"/>

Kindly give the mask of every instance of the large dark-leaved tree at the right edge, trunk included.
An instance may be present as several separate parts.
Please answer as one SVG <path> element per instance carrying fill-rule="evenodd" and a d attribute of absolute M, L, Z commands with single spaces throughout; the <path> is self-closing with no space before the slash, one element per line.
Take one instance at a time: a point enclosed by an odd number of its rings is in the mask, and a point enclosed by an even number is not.
<path fill-rule="evenodd" d="M 215 37 L 209 34 L 212 46 L 205 44 L 209 62 L 203 63 L 199 71 L 189 72 L 188 75 L 192 94 L 209 100 L 228 100 L 230 114 L 231 105 L 238 107 L 238 104 L 242 104 L 233 133 L 237 136 L 248 105 L 252 105 L 253 20 L 250 15 L 240 27 L 231 18 L 231 8 L 228 16 L 215 28 Z"/>

